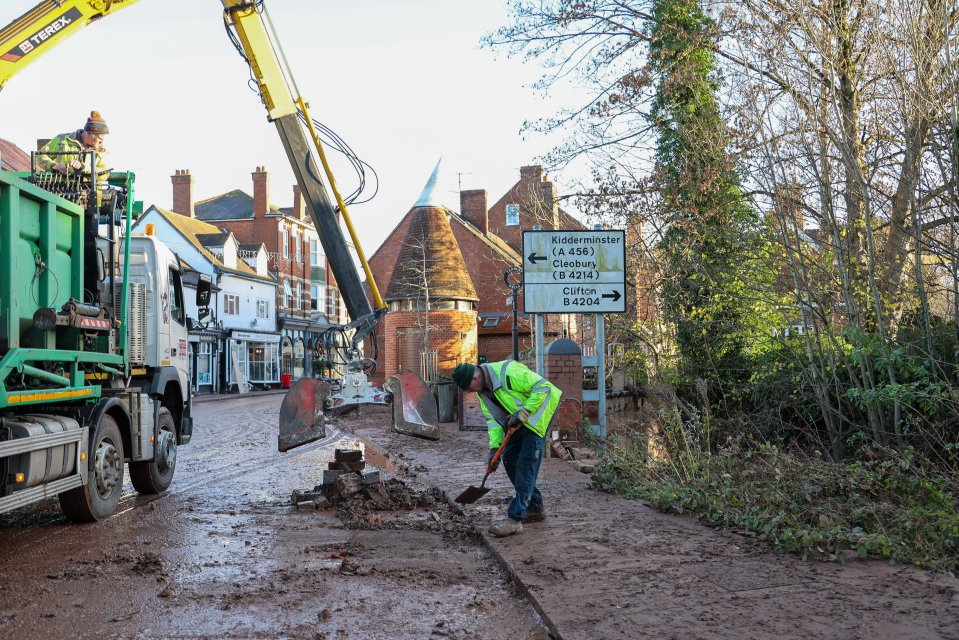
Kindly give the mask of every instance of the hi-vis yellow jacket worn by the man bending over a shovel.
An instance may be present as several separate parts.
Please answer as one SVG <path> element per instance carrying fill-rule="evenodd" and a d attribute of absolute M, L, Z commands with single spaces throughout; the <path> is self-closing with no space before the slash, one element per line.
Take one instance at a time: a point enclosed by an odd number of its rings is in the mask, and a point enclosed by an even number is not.
<path fill-rule="evenodd" d="M 563 392 L 549 380 L 515 360 L 491 362 L 481 364 L 480 367 L 493 388 L 492 391 L 477 394 L 480 407 L 486 416 L 490 449 L 496 449 L 503 442 L 506 419 L 520 409 L 529 411 L 526 428 L 541 438 L 545 436 Z M 502 408 L 495 402 L 488 402 L 488 399 L 483 397 L 486 394 L 492 395 Z"/>

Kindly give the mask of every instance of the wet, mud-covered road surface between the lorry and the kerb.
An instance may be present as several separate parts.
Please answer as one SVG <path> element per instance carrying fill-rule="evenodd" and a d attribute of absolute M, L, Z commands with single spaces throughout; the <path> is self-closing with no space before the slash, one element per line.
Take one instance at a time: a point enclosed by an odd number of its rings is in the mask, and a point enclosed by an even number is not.
<path fill-rule="evenodd" d="M 367 455 L 402 499 L 293 508 L 362 443 L 278 453 L 281 400 L 197 404 L 171 489 L 127 482 L 104 522 L 56 499 L 0 516 L 0 637 L 547 637 L 468 523 L 385 461 Z"/>

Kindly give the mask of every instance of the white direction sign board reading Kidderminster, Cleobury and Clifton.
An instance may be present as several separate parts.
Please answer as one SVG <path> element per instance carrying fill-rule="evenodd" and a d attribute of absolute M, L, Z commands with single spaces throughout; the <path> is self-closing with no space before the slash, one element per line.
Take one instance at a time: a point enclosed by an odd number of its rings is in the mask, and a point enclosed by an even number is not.
<path fill-rule="evenodd" d="M 526 313 L 624 313 L 626 232 L 523 231 Z"/>

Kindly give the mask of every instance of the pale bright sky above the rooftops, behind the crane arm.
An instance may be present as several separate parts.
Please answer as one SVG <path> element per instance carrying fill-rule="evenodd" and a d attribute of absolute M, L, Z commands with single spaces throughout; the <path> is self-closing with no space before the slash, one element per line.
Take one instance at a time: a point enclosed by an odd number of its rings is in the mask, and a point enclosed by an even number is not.
<path fill-rule="evenodd" d="M 0 25 L 35 4 L 4 0 Z M 379 176 L 377 196 L 350 208 L 368 255 L 440 158 L 438 199 L 458 211 L 460 187 L 486 189 L 492 204 L 521 166 L 559 143 L 521 129 L 567 98 L 530 88 L 541 71 L 534 63 L 480 46 L 508 22 L 505 0 L 268 0 L 267 8 L 311 115 Z M 199 201 L 252 194 L 250 174 L 265 166 L 270 201 L 287 207 L 295 179 L 248 80 L 218 0 L 141 0 L 14 76 L 0 92 L 0 137 L 29 151 L 96 109 L 110 127 L 108 165 L 136 173 L 145 206 L 172 205 L 177 169 L 190 170 Z M 352 170 L 333 163 L 341 191 L 352 191 Z M 561 192 L 572 182 L 551 179 Z"/>

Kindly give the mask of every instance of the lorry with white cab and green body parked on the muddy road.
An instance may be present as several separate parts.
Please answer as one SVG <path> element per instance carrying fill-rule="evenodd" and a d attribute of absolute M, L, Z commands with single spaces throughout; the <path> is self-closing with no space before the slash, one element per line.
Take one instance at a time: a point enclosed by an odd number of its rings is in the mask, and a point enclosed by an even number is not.
<path fill-rule="evenodd" d="M 57 496 L 100 520 L 124 465 L 162 492 L 190 441 L 192 320 L 176 256 L 130 233 L 133 183 L 0 172 L 0 513 Z"/>

